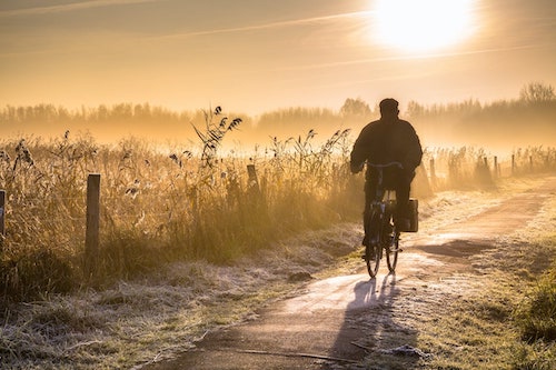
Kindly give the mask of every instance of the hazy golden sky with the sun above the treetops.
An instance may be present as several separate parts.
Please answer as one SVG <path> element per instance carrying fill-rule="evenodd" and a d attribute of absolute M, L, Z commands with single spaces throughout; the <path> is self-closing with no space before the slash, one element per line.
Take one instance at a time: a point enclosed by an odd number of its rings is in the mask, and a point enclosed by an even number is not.
<path fill-rule="evenodd" d="M 554 0 L 0 0 L 0 106 L 256 114 L 532 81 L 556 84 Z"/>

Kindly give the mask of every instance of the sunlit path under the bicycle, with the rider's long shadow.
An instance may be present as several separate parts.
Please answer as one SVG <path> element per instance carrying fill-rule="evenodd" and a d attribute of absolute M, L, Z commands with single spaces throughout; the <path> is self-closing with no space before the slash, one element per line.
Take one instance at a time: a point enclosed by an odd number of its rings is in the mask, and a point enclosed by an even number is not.
<path fill-rule="evenodd" d="M 416 342 L 417 332 L 398 322 L 395 302 L 400 297 L 406 304 L 409 298 L 407 309 L 423 314 L 443 304 L 443 294 L 457 294 L 453 273 L 471 270 L 467 257 L 526 227 L 555 191 L 550 178 L 467 220 L 406 234 L 395 276 L 369 280 L 361 261 L 360 273 L 314 281 L 299 296 L 260 310 L 256 319 L 209 332 L 193 350 L 143 369 L 358 369 L 369 351 L 395 350 L 393 334 Z M 438 297 L 419 297 L 416 287 L 424 282 Z M 416 354 L 407 358 L 411 368 L 424 354 L 407 349 Z"/>

